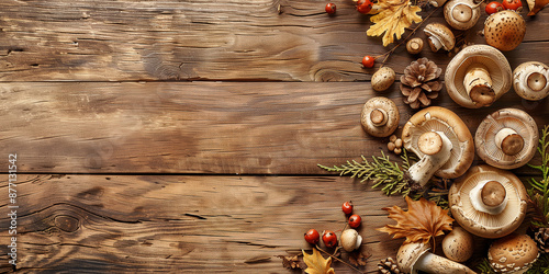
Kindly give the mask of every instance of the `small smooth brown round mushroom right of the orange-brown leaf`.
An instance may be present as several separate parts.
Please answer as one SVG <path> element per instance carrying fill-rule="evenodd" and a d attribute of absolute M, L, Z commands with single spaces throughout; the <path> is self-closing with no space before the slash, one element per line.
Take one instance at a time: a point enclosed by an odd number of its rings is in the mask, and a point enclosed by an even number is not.
<path fill-rule="evenodd" d="M 464 262 L 473 254 L 473 236 L 461 227 L 455 227 L 442 240 L 442 251 L 446 258 Z"/>

